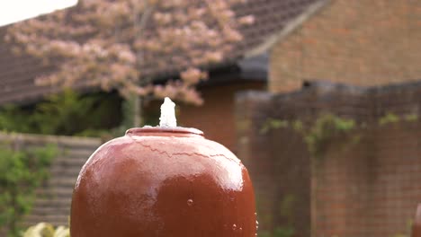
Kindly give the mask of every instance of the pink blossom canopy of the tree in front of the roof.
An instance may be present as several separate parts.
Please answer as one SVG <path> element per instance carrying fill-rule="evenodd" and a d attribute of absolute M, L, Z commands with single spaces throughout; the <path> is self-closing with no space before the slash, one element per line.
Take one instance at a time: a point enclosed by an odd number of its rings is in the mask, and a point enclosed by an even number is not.
<path fill-rule="evenodd" d="M 217 64 L 243 40 L 253 16 L 232 9 L 245 0 L 79 0 L 75 7 L 14 24 L 5 40 L 16 53 L 57 68 L 36 83 L 118 90 L 125 98 L 169 96 L 202 104 L 199 67 Z M 181 72 L 154 85 L 152 72 Z M 137 104 L 139 107 L 139 104 Z M 138 122 L 139 123 L 139 122 Z"/>

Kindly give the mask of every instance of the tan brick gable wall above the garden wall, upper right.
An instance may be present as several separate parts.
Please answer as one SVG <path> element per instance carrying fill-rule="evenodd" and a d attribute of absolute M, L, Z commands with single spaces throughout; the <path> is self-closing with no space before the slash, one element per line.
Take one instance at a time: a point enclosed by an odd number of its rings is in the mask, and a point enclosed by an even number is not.
<path fill-rule="evenodd" d="M 421 1 L 331 0 L 270 52 L 269 90 L 303 80 L 379 85 L 421 78 Z"/>

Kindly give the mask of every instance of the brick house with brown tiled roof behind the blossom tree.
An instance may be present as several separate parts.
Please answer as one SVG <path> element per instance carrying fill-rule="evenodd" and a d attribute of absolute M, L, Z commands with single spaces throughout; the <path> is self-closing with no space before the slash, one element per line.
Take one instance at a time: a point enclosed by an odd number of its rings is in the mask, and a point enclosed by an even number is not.
<path fill-rule="evenodd" d="M 234 9 L 238 15 L 253 14 L 255 24 L 241 29 L 245 40 L 236 46 L 224 63 L 210 69 L 210 80 L 199 86 L 205 104 L 202 107 L 180 106 L 179 121 L 186 127 L 202 129 L 210 139 L 235 149 L 234 94 L 243 90 L 265 90 L 267 79 L 267 54 L 248 52 L 266 41 L 276 31 L 281 31 L 288 22 L 305 12 L 316 0 L 254 0 Z M 66 10 L 64 10 L 66 11 Z M 51 68 L 41 66 L 40 61 L 27 57 L 16 57 L 4 40 L 6 27 L 0 28 L 0 105 L 5 103 L 30 104 L 40 101 L 45 95 L 58 92 L 59 88 L 34 85 L 34 77 Z M 162 59 L 162 58 L 159 58 Z M 148 62 L 148 75 L 171 78 L 182 68 L 154 68 Z M 168 64 L 170 65 L 170 64 Z M 146 69 L 146 70 L 144 70 Z M 76 88 L 85 92 L 85 88 Z M 147 110 L 157 112 L 152 103 Z M 218 127 L 218 129 L 215 129 Z"/>

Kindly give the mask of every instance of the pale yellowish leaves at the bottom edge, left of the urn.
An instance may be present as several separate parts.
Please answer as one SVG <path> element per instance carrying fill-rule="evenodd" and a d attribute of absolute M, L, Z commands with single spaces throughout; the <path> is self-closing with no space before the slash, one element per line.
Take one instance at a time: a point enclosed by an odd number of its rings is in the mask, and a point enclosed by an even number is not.
<path fill-rule="evenodd" d="M 22 237 L 70 237 L 70 231 L 65 226 L 55 229 L 52 224 L 40 223 L 29 227 Z"/>

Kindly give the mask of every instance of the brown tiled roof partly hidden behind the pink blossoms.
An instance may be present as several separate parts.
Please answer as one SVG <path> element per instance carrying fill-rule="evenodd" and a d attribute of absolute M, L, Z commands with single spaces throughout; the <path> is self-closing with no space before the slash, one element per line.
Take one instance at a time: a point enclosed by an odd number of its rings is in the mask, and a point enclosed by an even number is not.
<path fill-rule="evenodd" d="M 225 62 L 234 62 L 243 57 L 247 50 L 263 43 L 268 36 L 281 31 L 287 22 L 304 13 L 309 5 L 320 0 L 248 0 L 235 9 L 238 15 L 253 14 L 255 23 L 241 29 L 245 40 L 237 45 L 234 52 L 225 58 Z M 39 100 L 43 95 L 57 92 L 57 88 L 40 87 L 34 84 L 37 75 L 51 70 L 42 66 L 40 60 L 32 57 L 16 57 L 10 45 L 3 41 L 6 27 L 0 28 L 0 104 Z M 153 63 L 153 62 L 152 62 Z M 153 65 L 153 64 L 152 64 Z M 176 66 L 168 67 L 165 72 L 154 71 L 148 67 L 149 75 L 174 75 Z"/>

